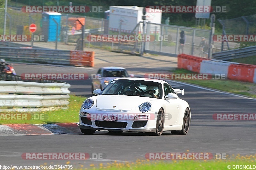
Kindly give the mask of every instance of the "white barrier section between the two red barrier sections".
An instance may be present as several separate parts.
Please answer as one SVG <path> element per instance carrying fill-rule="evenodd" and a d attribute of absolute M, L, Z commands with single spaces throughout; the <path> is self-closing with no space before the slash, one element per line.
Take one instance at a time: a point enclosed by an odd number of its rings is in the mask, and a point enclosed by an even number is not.
<path fill-rule="evenodd" d="M 225 74 L 227 77 L 229 65 L 230 63 L 203 60 L 200 65 L 200 73 Z"/>

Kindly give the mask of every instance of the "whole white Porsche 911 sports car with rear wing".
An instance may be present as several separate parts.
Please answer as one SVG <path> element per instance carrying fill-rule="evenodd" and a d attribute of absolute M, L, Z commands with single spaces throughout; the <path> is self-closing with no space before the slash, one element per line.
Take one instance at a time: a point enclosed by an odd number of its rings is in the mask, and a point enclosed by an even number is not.
<path fill-rule="evenodd" d="M 96 130 L 109 132 L 148 132 L 160 136 L 163 131 L 187 134 L 190 107 L 163 80 L 116 78 L 101 91 L 96 89 L 79 112 L 78 128 L 84 134 Z"/>

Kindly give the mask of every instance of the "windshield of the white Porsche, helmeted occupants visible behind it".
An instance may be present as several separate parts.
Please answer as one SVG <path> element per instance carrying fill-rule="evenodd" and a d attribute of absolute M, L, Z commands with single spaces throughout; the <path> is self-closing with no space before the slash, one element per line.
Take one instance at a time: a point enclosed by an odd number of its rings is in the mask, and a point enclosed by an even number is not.
<path fill-rule="evenodd" d="M 126 95 L 162 98 L 162 85 L 144 80 L 113 80 L 100 95 Z"/>

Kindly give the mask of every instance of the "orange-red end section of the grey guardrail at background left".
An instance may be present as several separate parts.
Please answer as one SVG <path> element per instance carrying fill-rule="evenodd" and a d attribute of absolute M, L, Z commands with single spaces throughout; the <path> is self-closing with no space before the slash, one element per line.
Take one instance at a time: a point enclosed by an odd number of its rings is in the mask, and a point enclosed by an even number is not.
<path fill-rule="evenodd" d="M 70 51 L 70 65 L 94 67 L 94 51 Z"/>

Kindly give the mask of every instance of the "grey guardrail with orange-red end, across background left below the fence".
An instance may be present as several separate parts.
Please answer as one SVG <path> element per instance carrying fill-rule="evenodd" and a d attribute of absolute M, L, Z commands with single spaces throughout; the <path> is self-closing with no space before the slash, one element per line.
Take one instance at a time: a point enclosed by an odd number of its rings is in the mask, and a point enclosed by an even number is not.
<path fill-rule="evenodd" d="M 49 64 L 94 66 L 93 51 L 0 47 L 0 58 Z"/>

